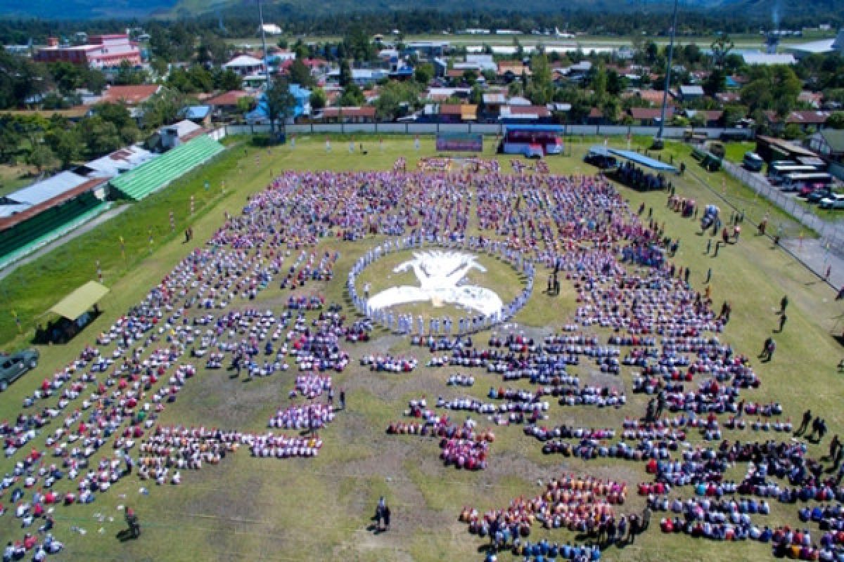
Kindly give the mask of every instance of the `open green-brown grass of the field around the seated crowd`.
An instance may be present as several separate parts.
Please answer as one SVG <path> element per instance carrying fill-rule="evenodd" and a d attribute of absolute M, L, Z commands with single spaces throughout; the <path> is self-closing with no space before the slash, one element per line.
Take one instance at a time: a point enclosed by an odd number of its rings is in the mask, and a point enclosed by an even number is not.
<path fill-rule="evenodd" d="M 324 137 L 297 136 L 294 147 L 274 147 L 270 151 L 235 145 L 230 151 L 200 169 L 190 178 L 171 185 L 167 190 L 138 203 L 114 224 L 96 228 L 89 235 L 74 240 L 66 247 L 46 255 L 33 264 L 21 267 L 13 276 L 0 281 L 0 341 L 4 345 L 23 345 L 26 336 L 43 310 L 63 294 L 93 276 L 93 262 L 103 260 L 106 285 L 111 293 L 101 303 L 104 311 L 94 325 L 68 345 L 41 347 L 41 365 L 35 372 L 15 383 L 0 397 L 0 419 L 14 417 L 21 399 L 31 393 L 41 378 L 77 356 L 83 345 L 93 343 L 105 329 L 133 303 L 139 302 L 151 286 L 187 253 L 181 243 L 181 229 L 188 223 L 197 242 L 208 239 L 222 222 L 226 211 L 238 213 L 246 197 L 261 190 L 268 180 L 284 169 L 389 169 L 398 156 L 408 157 L 408 169 L 414 168 L 419 156 L 433 153 L 433 138 L 423 137 L 417 153 L 413 139 L 388 137 L 383 150 L 368 155 L 338 149 L 327 154 Z M 364 139 L 366 142 L 368 139 Z M 495 158 L 487 143 L 484 156 Z M 572 147 L 571 157 L 549 158 L 552 172 L 593 174 L 595 169 L 582 163 L 588 142 Z M 245 152 L 244 152 L 245 151 Z M 722 188 L 723 174 L 709 174 L 689 158 L 689 149 L 669 145 L 666 156 L 682 158 L 688 171 L 677 178 L 679 195 L 695 198 L 701 205 L 722 205 L 722 196 L 747 204 L 748 217 L 761 217 L 773 212 L 762 201 L 752 201 L 738 185 L 727 182 Z M 500 158 L 502 169 L 509 169 L 509 157 Z M 239 164 L 242 171 L 239 171 Z M 212 190 L 203 190 L 208 178 Z M 225 180 L 226 193 L 219 190 Z M 723 190 L 723 191 L 722 191 Z M 664 193 L 638 193 L 620 188 L 622 195 L 636 208 L 640 203 L 652 209 L 653 217 L 663 222 L 668 236 L 679 237 L 678 265 L 690 267 L 690 282 L 703 288 L 706 270 L 712 270 L 712 297 L 720 304 L 733 302 L 733 319 L 721 335 L 738 352 L 751 357 L 762 340 L 776 328 L 775 308 L 783 294 L 792 304 L 788 309 L 785 332 L 776 335 L 778 349 L 771 363 L 755 364 L 763 381 L 762 387 L 743 393 L 749 400 L 784 404 L 786 414 L 796 420 L 803 409 L 825 415 L 830 435 L 844 431 L 844 413 L 840 404 L 841 384 L 836 364 L 841 358 L 840 345 L 830 331 L 841 331 L 838 318 L 844 313 L 834 293 L 817 281 L 803 266 L 771 246 L 767 238 L 745 235 L 739 244 L 722 249 L 717 259 L 703 253 L 706 237 L 697 233 L 695 222 L 679 217 L 665 205 Z M 726 195 L 725 195 L 726 194 Z M 201 197 L 197 213 L 188 217 L 185 211 L 190 195 Z M 751 203 L 753 206 L 751 206 Z M 167 212 L 176 209 L 178 227 L 171 234 Z M 727 211 L 727 216 L 729 212 Z M 778 215 L 782 222 L 790 219 Z M 791 224 L 791 223 L 788 223 Z M 150 252 L 147 227 L 154 227 L 154 244 Z M 796 227 L 795 227 L 796 228 Z M 751 229 L 749 229 L 751 230 Z M 116 238 L 126 237 L 127 259 L 120 255 Z M 354 244 L 326 240 L 319 251 L 338 249 L 341 258 L 336 265 L 335 281 L 316 290 L 327 302 L 344 302 L 345 272 L 358 255 L 382 238 L 367 238 Z M 385 265 L 386 266 L 386 265 Z M 544 273 L 538 275 L 544 280 Z M 277 285 L 262 292 L 256 302 L 238 302 L 235 308 L 277 307 L 289 292 L 280 292 Z M 571 286 L 564 281 L 560 297 L 535 292 L 527 307 L 516 318 L 522 329 L 537 335 L 571 321 L 576 302 Z M 314 291 L 313 286 L 308 287 Z M 10 309 L 15 307 L 24 318 L 26 334 L 16 336 L 14 324 L 8 323 Z M 277 311 L 278 312 L 278 311 Z M 24 316 L 25 314 L 25 316 Z M 598 331 L 603 336 L 606 333 Z M 477 340 L 484 341 L 479 335 Z M 377 330 L 365 345 L 346 345 L 353 358 L 369 352 L 413 354 L 421 364 L 430 358 L 422 348 L 410 348 L 406 340 Z M 574 370 L 591 383 L 612 384 L 630 389 L 629 369 L 619 377 L 604 375 L 582 363 Z M 468 534 L 457 522 L 465 505 L 480 510 L 506 506 L 518 495 L 538 493 L 536 481 L 547 481 L 560 472 L 592 474 L 601 478 L 625 479 L 635 489 L 641 479 L 650 479 L 640 464 L 615 460 L 584 462 L 576 458 L 545 457 L 533 439 L 522 436 L 518 426 L 496 428 L 497 439 L 491 447 L 490 468 L 480 473 L 456 471 L 443 467 L 437 455 L 435 440 L 413 436 L 387 436 L 387 424 L 402 417 L 408 399 L 421 395 L 446 398 L 474 396 L 481 398 L 500 379 L 473 372 L 478 379 L 474 388 L 446 388 L 446 378 L 455 372 L 448 368 L 419 367 L 403 375 L 373 373 L 352 367 L 334 377 L 335 385 L 347 389 L 348 411 L 338 415 L 333 425 L 322 432 L 325 445 L 318 458 L 311 460 L 255 459 L 245 450 L 225 458 L 219 466 L 183 473 L 181 486 L 157 487 L 140 483 L 134 477 L 123 479 L 94 504 L 57 508 L 56 535 L 67 543 L 62 560 L 480 560 L 484 542 Z M 161 416 L 162 424 L 236 427 L 264 431 L 269 415 L 289 404 L 287 392 L 295 373 L 273 375 L 252 382 L 231 378 L 225 371 L 200 369 Z M 510 386 L 524 386 L 512 383 Z M 565 409 L 552 406 L 547 425 L 576 423 L 578 426 L 619 427 L 625 415 L 638 416 L 644 411 L 645 399 L 628 394 L 629 403 L 621 409 Z M 462 415 L 453 415 L 457 420 Z M 481 419 L 480 425 L 489 422 Z M 725 431 L 725 437 L 756 440 L 768 437 L 750 431 Z M 772 437 L 776 437 L 776 434 Z M 46 433 L 36 437 L 34 446 L 43 447 Z M 819 446 L 810 445 L 815 457 L 825 454 Z M 95 458 L 111 454 L 106 446 Z M 18 455 L 19 457 L 19 455 Z M 0 474 L 8 472 L 13 459 L 0 461 Z M 733 474 L 740 478 L 744 467 Z M 732 474 L 732 473 L 731 473 Z M 142 486 L 149 495 L 140 492 Z M 688 494 L 682 490 L 681 495 Z M 393 511 L 389 533 L 375 535 L 367 530 L 377 498 L 386 495 Z M 8 498 L 0 498 L 8 505 Z M 137 541 L 119 542 L 116 534 L 124 527 L 122 506 L 138 511 L 143 527 Z M 641 498 L 630 494 L 623 509 L 641 509 Z M 795 506 L 774 505 L 769 517 L 760 517 L 763 524 L 795 525 Z M 113 518 L 113 521 L 111 520 Z M 81 527 L 86 534 L 75 533 Z M 803 525 L 801 525 L 803 527 Z M 814 534 L 817 534 L 814 529 Z M 15 539 L 22 536 L 19 520 L 9 514 L 0 517 L 0 536 Z M 542 536 L 534 533 L 532 538 Z M 565 542 L 570 533 L 555 532 L 554 540 Z M 515 558 L 503 554 L 500 560 Z M 652 525 L 649 533 L 625 549 L 609 549 L 610 560 L 765 560 L 771 559 L 770 547 L 759 543 L 711 543 L 685 536 L 665 536 Z"/>

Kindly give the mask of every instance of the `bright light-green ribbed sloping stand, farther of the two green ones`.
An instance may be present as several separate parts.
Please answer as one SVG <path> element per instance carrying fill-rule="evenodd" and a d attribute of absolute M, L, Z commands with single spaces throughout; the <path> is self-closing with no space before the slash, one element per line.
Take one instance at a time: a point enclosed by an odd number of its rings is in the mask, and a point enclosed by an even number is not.
<path fill-rule="evenodd" d="M 126 174 L 111 179 L 111 185 L 122 195 L 138 201 L 214 158 L 223 150 L 223 145 L 210 136 L 200 135 Z"/>

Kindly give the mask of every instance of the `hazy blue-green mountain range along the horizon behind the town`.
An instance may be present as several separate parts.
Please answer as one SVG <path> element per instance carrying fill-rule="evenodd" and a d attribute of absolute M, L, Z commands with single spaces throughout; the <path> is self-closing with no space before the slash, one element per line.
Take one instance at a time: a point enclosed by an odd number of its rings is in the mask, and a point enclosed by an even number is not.
<path fill-rule="evenodd" d="M 256 0 L 0 0 L 0 18 L 40 19 L 131 19 L 160 17 L 192 17 L 223 11 L 243 13 Z M 269 18 L 329 13 L 392 12 L 405 10 L 439 11 L 514 11 L 522 13 L 591 10 L 625 12 L 647 8 L 668 10 L 673 0 L 569 0 L 565 6 L 553 0 L 332 0 L 314 3 L 311 0 L 264 0 Z M 723 10 L 725 14 L 745 13 L 750 18 L 769 19 L 772 10 L 778 15 L 836 13 L 841 0 L 680 0 L 684 10 Z"/>

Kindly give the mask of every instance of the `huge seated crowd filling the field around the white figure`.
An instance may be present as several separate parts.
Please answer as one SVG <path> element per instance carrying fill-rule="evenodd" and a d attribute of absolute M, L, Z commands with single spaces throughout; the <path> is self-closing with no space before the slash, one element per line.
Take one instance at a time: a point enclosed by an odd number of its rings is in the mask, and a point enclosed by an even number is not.
<path fill-rule="evenodd" d="M 252 195 L 241 213 L 227 213 L 208 244 L 191 250 L 142 302 L 100 334 L 96 346 L 44 377 L 13 422 L 0 424 L 4 452 L 17 462 L 3 490 L 25 507 L 21 519 L 35 517 L 46 505 L 93 501 L 136 466 L 141 479 L 178 484 L 182 472 L 219 463 L 238 447 L 249 447 L 258 458 L 316 456 L 322 447 L 317 431 L 336 415 L 329 373 L 343 372 L 352 361 L 341 341 L 367 341 L 373 324 L 381 324 L 412 336 L 411 343 L 432 354 L 442 352 L 432 367 L 478 369 L 533 385 L 490 388 L 486 400 L 440 398 L 434 408 L 417 399 L 409 404 L 408 420 L 387 427 L 391 434 L 438 437 L 446 465 L 486 468 L 495 434 L 479 431 L 472 418 L 457 423 L 436 409 L 490 415 L 500 425 L 527 424 L 525 433 L 546 453 L 641 463 L 652 480 L 637 490 L 647 496 L 648 509 L 667 512 L 660 523 L 666 533 L 770 541 L 775 553 L 804 559 L 838 559 L 844 553 L 844 517 L 840 506 L 830 504 L 844 501 L 841 472 L 825 473 L 798 440 L 722 438 L 722 428 L 787 434 L 793 427 L 781 420 L 782 405 L 744 399 L 742 393 L 759 388 L 761 379 L 749 356 L 719 339 L 731 307 L 724 302 L 717 312 L 708 291 L 695 291 L 690 270 L 668 261 L 677 241 L 665 237 L 663 225 L 631 211 L 602 177 L 501 174 L 485 165 L 476 174 L 450 172 L 436 159 L 425 166 L 432 171 L 408 173 L 406 163 L 397 163 L 392 172 L 284 172 Z M 636 169 L 623 174 L 648 187 L 659 182 Z M 474 220 L 477 230 L 469 228 Z M 327 307 L 310 285 L 333 279 L 340 258 L 336 247 L 373 234 L 392 238 L 378 238 L 354 261 L 345 286 L 362 318 L 347 324 L 342 310 Z M 324 248 L 317 249 L 321 241 Z M 451 322 L 448 329 L 445 322 L 422 322 L 420 329 L 419 318 L 409 314 L 367 309 L 357 276 L 384 254 L 423 245 L 496 256 L 524 276 L 525 286 L 500 316 L 467 314 L 456 321 L 457 329 Z M 541 267 L 571 286 L 576 310 L 572 318 L 560 318 L 569 324 L 535 339 L 517 327 L 496 328 L 485 349 L 475 346 L 467 334 L 511 319 L 533 296 Z M 307 295 L 285 293 L 279 301 L 283 311 L 257 308 L 268 289 L 303 286 Z M 596 335 L 598 330 L 604 335 Z M 197 372 L 187 356 L 203 358 L 211 369 L 239 374 L 245 368 L 250 377 L 282 373 L 292 361 L 291 404 L 279 408 L 268 425 L 298 435 L 158 426 L 162 409 Z M 373 372 L 411 372 L 418 362 L 370 350 L 360 357 L 360 366 Z M 587 363 L 596 376 L 610 376 L 602 381 L 619 382 L 596 383 L 574 372 Z M 622 379 L 615 377 L 622 366 L 634 373 L 632 391 L 651 399 L 643 420 L 630 417 L 619 430 L 545 422 L 552 405 L 625 405 Z M 468 387 L 474 377 L 464 373 L 449 380 Z M 298 399 L 305 402 L 295 403 Z M 825 421 L 818 418 L 811 429 L 810 436 L 822 440 Z M 704 439 L 686 446 L 692 431 Z M 39 435 L 45 436 L 44 450 L 30 447 Z M 104 452 L 107 444 L 111 450 Z M 749 466 L 738 482 L 725 476 L 735 463 Z M 528 543 L 534 524 L 587 533 L 596 544 L 607 543 L 598 538 L 610 534 L 609 543 L 619 534 L 635 538 L 647 527 L 644 513 L 615 512 L 625 502 L 625 484 L 565 476 L 544 488 L 536 498 L 518 498 L 504 509 L 480 514 L 467 508 L 461 518 L 496 546 L 543 556 L 566 548 L 569 554 L 581 549 L 578 556 L 599 557 L 601 549 Z M 668 500 L 680 490 L 688 490 L 688 500 Z M 825 532 L 820 546 L 803 530 L 756 524 L 752 517 L 765 516 L 769 500 L 799 502 L 801 517 Z M 816 502 L 824 506 L 818 512 Z M 630 534 L 619 533 L 622 521 Z M 43 549 L 49 551 L 51 541 L 44 541 Z M 25 543 L 31 551 L 38 540 Z"/>

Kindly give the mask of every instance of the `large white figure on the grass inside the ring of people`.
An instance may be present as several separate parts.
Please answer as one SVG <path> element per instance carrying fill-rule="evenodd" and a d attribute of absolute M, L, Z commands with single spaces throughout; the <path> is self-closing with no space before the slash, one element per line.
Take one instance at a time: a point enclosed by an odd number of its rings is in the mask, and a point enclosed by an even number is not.
<path fill-rule="evenodd" d="M 402 273 L 408 269 L 414 270 L 419 286 L 393 286 L 379 292 L 368 301 L 373 310 L 430 301 L 435 305 L 454 304 L 490 316 L 504 306 L 501 298 L 486 287 L 461 285 L 469 270 L 486 271 L 473 254 L 443 250 L 414 252 L 413 260 L 397 265 L 392 271 Z"/>

